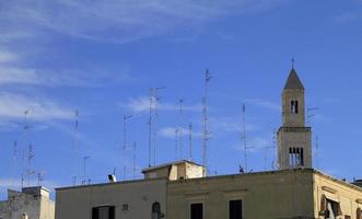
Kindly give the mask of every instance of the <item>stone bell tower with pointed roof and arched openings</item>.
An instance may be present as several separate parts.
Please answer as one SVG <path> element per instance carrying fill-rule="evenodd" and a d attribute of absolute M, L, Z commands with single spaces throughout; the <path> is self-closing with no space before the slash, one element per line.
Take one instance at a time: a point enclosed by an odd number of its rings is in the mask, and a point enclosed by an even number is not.
<path fill-rule="evenodd" d="M 294 67 L 282 92 L 282 126 L 278 130 L 280 170 L 312 168 L 312 129 L 305 127 L 304 87 Z"/>

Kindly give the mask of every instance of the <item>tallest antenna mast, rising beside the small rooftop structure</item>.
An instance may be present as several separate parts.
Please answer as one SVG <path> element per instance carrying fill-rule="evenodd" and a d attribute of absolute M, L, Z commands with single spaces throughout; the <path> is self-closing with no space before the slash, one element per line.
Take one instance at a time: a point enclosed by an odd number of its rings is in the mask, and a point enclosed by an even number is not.
<path fill-rule="evenodd" d="M 209 92 L 209 82 L 211 76 L 209 70 L 207 69 L 205 72 L 205 96 L 203 96 L 203 110 L 202 110 L 202 117 L 203 117 L 203 135 L 202 135 L 202 165 L 208 172 L 208 140 L 210 139 L 210 131 L 208 130 L 208 92 Z"/>

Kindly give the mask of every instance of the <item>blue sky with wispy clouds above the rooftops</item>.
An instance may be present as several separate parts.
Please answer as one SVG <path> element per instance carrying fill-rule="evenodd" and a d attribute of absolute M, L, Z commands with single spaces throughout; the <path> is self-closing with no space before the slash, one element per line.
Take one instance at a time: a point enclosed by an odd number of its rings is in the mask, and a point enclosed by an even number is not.
<path fill-rule="evenodd" d="M 360 0 L 25 0 L 0 1 L 0 194 L 20 184 L 28 143 L 44 185 L 71 184 L 75 172 L 105 182 L 137 142 L 137 169 L 148 165 L 148 95 L 160 91 L 157 163 L 175 154 L 175 128 L 194 126 L 194 160 L 201 162 L 203 73 L 210 69 L 210 174 L 243 163 L 241 108 L 254 148 L 248 166 L 271 170 L 280 95 L 295 57 L 318 137 L 314 164 L 337 177 L 362 177 Z M 178 100 L 184 99 L 179 116 Z M 24 111 L 31 128 L 25 135 Z M 74 111 L 79 111 L 74 171 Z M 25 137 L 26 136 L 26 137 Z M 13 155 L 13 143 L 17 153 Z M 188 138 L 183 137 L 183 158 Z M 316 150 L 315 150 L 316 151 Z M 131 150 L 127 150 L 131 178 Z M 318 159 L 316 159 L 318 158 Z M 141 177 L 140 174 L 137 177 Z M 32 183 L 36 184 L 36 176 Z"/>

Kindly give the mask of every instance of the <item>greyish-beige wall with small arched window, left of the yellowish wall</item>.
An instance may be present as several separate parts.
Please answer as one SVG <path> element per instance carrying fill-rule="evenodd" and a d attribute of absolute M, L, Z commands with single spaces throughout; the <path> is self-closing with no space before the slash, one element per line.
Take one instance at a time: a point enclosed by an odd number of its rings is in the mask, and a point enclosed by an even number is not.
<path fill-rule="evenodd" d="M 56 219 L 91 219 L 93 207 L 116 207 L 116 219 L 151 218 L 154 201 L 166 210 L 166 180 L 145 180 L 59 188 L 56 194 Z M 122 211 L 128 204 L 129 210 Z"/>

